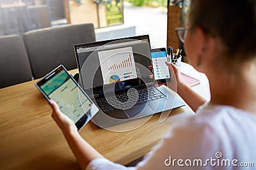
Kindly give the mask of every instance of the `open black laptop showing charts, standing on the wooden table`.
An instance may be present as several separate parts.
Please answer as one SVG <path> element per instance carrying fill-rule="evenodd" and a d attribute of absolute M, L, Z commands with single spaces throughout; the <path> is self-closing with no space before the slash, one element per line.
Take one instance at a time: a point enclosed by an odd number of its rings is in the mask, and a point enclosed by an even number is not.
<path fill-rule="evenodd" d="M 148 35 L 74 45 L 79 84 L 98 106 L 92 121 L 119 124 L 184 106 L 184 101 L 149 78 Z"/>

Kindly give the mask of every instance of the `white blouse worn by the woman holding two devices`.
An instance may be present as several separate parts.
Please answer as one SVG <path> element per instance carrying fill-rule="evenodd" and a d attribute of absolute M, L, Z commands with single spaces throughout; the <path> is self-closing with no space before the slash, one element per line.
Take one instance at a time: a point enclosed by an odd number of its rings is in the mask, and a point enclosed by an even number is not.
<path fill-rule="evenodd" d="M 253 169 L 256 167 L 256 114 L 232 106 L 206 105 L 172 124 L 136 167 L 94 159 L 90 169 Z"/>

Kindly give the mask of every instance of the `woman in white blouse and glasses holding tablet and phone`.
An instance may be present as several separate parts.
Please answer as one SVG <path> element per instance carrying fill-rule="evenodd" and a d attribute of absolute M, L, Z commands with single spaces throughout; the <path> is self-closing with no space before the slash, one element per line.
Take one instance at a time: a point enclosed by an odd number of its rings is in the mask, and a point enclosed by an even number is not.
<path fill-rule="evenodd" d="M 184 84 L 177 68 L 167 64 L 177 77 L 177 92 L 196 115 L 173 125 L 152 152 L 129 169 L 243 169 L 242 163 L 256 160 L 255 11 L 255 0 L 191 1 L 182 28 L 184 46 L 191 65 L 209 79 L 211 101 L 205 104 Z M 128 169 L 104 159 L 56 103 L 49 103 L 82 169 Z"/>

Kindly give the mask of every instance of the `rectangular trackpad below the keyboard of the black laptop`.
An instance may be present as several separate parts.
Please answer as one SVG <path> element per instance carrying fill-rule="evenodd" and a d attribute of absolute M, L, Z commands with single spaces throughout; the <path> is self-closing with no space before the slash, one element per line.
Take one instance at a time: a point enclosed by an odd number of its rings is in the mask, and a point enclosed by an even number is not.
<path fill-rule="evenodd" d="M 124 110 L 124 112 L 129 116 L 129 118 L 144 117 L 146 115 L 154 114 L 154 110 L 152 110 L 148 104 L 138 104 L 129 110 Z"/>

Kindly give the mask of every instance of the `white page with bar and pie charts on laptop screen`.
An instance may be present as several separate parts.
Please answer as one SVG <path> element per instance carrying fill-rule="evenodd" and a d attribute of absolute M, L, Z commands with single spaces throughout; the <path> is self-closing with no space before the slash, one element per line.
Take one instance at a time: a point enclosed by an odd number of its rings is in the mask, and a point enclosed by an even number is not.
<path fill-rule="evenodd" d="M 98 52 L 104 84 L 137 78 L 132 47 Z"/>

